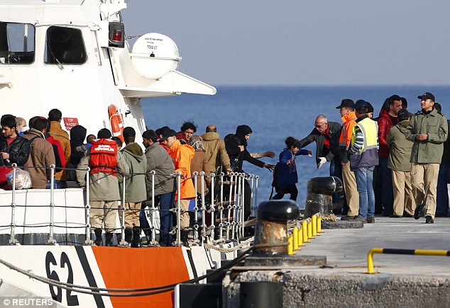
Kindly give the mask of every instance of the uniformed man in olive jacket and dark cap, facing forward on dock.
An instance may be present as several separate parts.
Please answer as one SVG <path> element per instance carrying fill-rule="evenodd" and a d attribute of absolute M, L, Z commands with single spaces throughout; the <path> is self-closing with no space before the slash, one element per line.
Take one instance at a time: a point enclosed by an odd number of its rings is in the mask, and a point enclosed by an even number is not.
<path fill-rule="evenodd" d="M 439 164 L 448 135 L 447 120 L 434 109 L 434 95 L 426 92 L 417 96 L 422 110 L 412 116 L 406 138 L 414 142 L 411 159 L 412 193 L 415 195 L 414 218 L 419 219 L 422 203 L 425 206 L 425 223 L 434 222 L 436 212 L 437 177 Z M 423 193 L 425 191 L 425 193 Z"/>

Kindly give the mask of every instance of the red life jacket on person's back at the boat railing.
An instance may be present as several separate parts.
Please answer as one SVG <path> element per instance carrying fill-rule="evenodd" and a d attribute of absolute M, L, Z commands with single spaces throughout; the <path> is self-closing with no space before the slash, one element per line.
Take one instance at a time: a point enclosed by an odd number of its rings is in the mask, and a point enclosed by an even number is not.
<path fill-rule="evenodd" d="M 104 172 L 117 176 L 117 144 L 111 139 L 96 139 L 91 142 L 89 174 Z"/>

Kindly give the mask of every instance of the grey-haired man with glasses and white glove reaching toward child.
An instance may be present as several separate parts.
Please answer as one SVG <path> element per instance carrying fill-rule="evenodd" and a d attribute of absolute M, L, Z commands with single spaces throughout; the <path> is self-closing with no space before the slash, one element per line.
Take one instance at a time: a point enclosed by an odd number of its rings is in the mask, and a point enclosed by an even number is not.
<path fill-rule="evenodd" d="M 333 139 L 336 139 L 334 138 L 334 135 L 339 132 L 340 129 L 341 125 L 338 122 L 328 122 L 325 115 L 318 115 L 316 122 L 314 122 L 314 129 L 312 132 L 310 132 L 307 137 L 300 140 L 300 149 L 312 142 L 316 142 L 317 169 L 324 166 L 326 161 L 329 161 L 330 176 L 337 176 L 342 180 L 341 159 L 339 159 L 337 144 L 332 141 Z M 339 202 L 340 196 L 340 192 L 334 193 L 333 202 Z"/>

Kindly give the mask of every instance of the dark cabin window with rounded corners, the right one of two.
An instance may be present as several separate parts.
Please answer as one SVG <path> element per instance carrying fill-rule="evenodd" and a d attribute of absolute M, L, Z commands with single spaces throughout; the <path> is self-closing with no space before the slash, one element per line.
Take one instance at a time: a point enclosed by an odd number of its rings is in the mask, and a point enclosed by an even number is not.
<path fill-rule="evenodd" d="M 47 30 L 46 64 L 83 64 L 87 55 L 81 30 L 52 26 Z"/>

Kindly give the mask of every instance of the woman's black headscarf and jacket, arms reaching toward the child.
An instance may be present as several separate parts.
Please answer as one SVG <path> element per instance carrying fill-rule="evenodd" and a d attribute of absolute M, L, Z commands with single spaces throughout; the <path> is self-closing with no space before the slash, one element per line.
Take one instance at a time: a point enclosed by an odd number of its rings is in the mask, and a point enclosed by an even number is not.
<path fill-rule="evenodd" d="M 236 128 L 236 135 L 225 137 L 225 148 L 230 158 L 231 169 L 234 172 L 243 172 L 243 161 L 248 161 L 250 164 L 263 168 L 264 162 L 259 159 L 254 159 L 247 151 L 246 135 L 251 134 L 252 130 L 247 125 L 239 125 Z M 239 148 L 243 145 L 243 151 Z"/>

